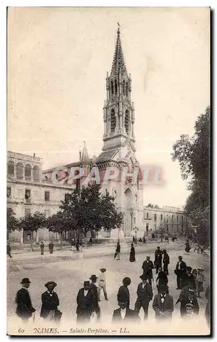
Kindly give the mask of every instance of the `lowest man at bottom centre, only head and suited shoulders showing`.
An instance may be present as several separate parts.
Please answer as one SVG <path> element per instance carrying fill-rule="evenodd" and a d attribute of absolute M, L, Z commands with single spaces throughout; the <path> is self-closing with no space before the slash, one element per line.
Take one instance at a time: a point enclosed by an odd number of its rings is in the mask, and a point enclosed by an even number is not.
<path fill-rule="evenodd" d="M 139 322 L 140 317 L 138 317 L 138 313 L 136 311 L 127 308 L 127 300 L 125 302 L 118 302 L 120 308 L 117 308 L 113 312 L 112 323 L 121 323 L 122 321 L 129 322 Z"/>

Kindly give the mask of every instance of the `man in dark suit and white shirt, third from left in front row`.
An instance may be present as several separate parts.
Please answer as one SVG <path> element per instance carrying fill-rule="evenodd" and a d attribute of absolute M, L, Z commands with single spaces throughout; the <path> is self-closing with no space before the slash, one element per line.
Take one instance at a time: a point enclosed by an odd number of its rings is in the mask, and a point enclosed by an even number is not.
<path fill-rule="evenodd" d="M 94 311 L 95 296 L 90 289 L 90 281 L 84 281 L 84 287 L 77 293 L 77 323 L 90 321 L 90 315 Z"/>

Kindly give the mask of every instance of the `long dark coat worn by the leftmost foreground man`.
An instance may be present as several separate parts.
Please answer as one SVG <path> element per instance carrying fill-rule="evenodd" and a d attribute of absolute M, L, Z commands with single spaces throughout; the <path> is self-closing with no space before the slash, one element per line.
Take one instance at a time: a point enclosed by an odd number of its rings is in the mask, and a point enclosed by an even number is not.
<path fill-rule="evenodd" d="M 36 311 L 31 305 L 31 298 L 27 289 L 20 289 L 16 293 L 16 315 L 21 318 L 29 318 Z"/>

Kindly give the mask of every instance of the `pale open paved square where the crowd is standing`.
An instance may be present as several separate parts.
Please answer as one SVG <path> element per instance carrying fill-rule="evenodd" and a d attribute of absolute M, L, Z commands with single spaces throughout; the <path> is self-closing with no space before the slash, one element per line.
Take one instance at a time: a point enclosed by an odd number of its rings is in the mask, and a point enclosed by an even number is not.
<path fill-rule="evenodd" d="M 170 294 L 173 295 L 174 302 L 179 297 L 179 290 L 176 290 L 176 276 L 173 272 L 177 263 L 177 257 L 181 254 L 183 260 L 187 265 L 193 268 L 203 266 L 205 269 L 205 288 L 209 282 L 209 256 L 197 254 L 191 250 L 190 254 L 184 252 L 183 243 L 180 241 L 170 243 L 170 245 L 163 244 L 146 244 L 143 246 L 136 246 L 136 263 L 129 262 L 129 246 L 123 246 L 120 254 L 120 261 L 114 260 L 114 246 L 90 247 L 84 250 L 82 254 L 76 254 L 70 250 L 56 251 L 53 255 L 36 255 L 35 252 L 29 254 L 17 254 L 13 259 L 8 260 L 8 315 L 14 315 L 15 304 L 14 298 L 16 291 L 20 288 L 21 279 L 29 277 L 31 286 L 29 292 L 34 308 L 36 308 L 36 322 L 40 321 L 40 298 L 45 291 L 44 284 L 48 280 L 54 280 L 58 283 L 56 291 L 60 298 L 60 310 L 63 313 L 62 321 L 67 318 L 71 323 L 75 321 L 76 315 L 76 297 L 79 288 L 82 287 L 84 280 L 88 280 L 91 274 L 99 274 L 99 269 L 105 267 L 107 269 L 107 293 L 109 302 L 105 302 L 102 297 L 101 317 L 102 321 L 110 321 L 112 312 L 118 308 L 116 301 L 116 294 L 118 287 L 122 285 L 122 280 L 125 276 L 131 278 L 131 285 L 129 285 L 130 292 L 130 306 L 134 308 L 136 301 L 136 289 L 140 282 L 139 276 L 142 274 L 142 262 L 146 259 L 146 255 L 151 255 L 151 260 L 154 260 L 154 251 L 156 246 L 166 248 L 170 255 L 169 265 L 169 287 Z M 173 248 L 173 249 L 172 249 Z M 154 270 L 155 271 L 155 270 Z M 154 279 L 156 274 L 154 273 Z M 157 293 L 156 285 L 153 285 L 154 294 Z M 201 308 L 201 315 L 204 316 L 204 309 L 207 300 L 199 298 L 199 306 Z M 179 316 L 179 304 L 175 306 L 175 315 Z M 152 302 L 149 306 L 149 317 L 153 319 Z M 143 311 L 140 311 L 140 317 L 143 317 Z"/>

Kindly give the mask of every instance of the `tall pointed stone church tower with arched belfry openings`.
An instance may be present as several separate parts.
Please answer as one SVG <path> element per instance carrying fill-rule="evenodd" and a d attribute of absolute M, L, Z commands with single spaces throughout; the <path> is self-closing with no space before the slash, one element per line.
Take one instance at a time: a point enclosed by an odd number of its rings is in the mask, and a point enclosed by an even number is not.
<path fill-rule="evenodd" d="M 103 108 L 104 135 L 103 151 L 120 148 L 129 142 L 135 152 L 134 107 L 131 102 L 131 76 L 127 73 L 120 29 L 117 31 L 116 47 L 110 76 L 106 77 L 107 98 Z"/>

